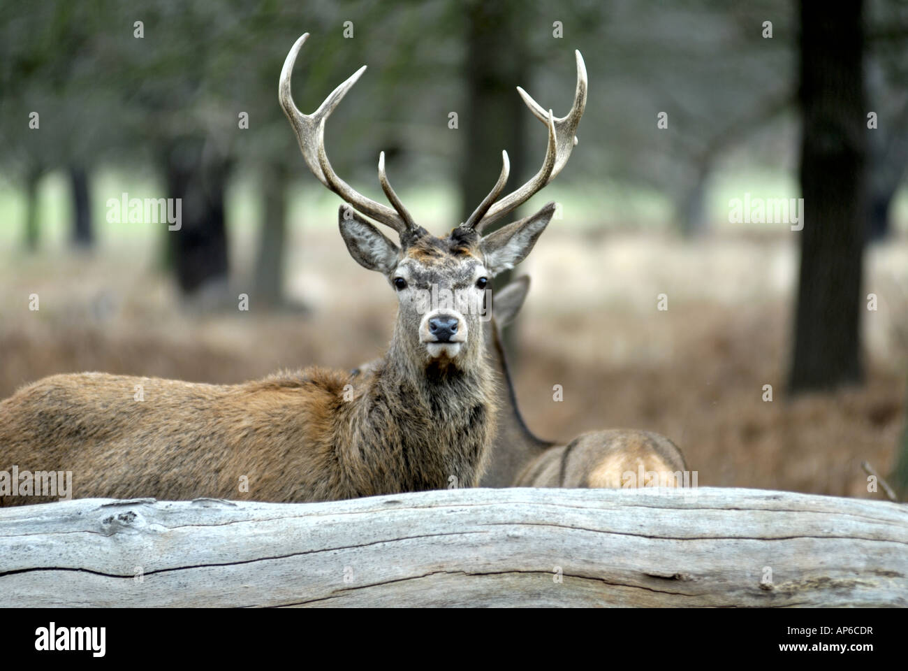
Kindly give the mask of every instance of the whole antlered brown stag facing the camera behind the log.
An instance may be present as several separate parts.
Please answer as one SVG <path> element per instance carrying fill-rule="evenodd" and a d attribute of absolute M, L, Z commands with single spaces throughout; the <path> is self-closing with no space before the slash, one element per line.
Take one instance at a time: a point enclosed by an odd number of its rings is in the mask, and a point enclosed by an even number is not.
<path fill-rule="evenodd" d="M 191 384 L 84 373 L 46 377 L 0 402 L 0 468 L 71 471 L 72 496 L 210 496 L 263 501 L 318 501 L 477 486 L 494 436 L 496 395 L 484 353 L 479 310 L 424 305 L 433 287 L 481 304 L 486 285 L 529 254 L 554 205 L 481 235 L 547 185 L 568 162 L 587 102 L 577 52 L 577 91 L 568 115 L 547 113 L 520 95 L 548 128 L 538 173 L 498 200 L 498 183 L 469 219 L 445 237 L 413 221 L 385 175 L 393 209 L 354 191 L 325 152 L 325 122 L 365 70 L 338 86 L 311 115 L 293 104 L 291 74 L 302 35 L 281 70 L 279 98 L 312 174 L 346 204 L 341 236 L 350 255 L 384 275 L 399 309 L 386 354 L 345 397 L 349 373 L 306 368 L 241 385 Z M 357 214 L 359 213 L 359 214 Z M 395 245 L 363 216 L 400 235 Z M 142 388 L 143 400 L 135 399 Z M 246 485 L 243 490 L 242 485 Z M 0 482 L 2 485 L 2 482 Z M 0 505 L 46 501 L 10 496 Z"/>

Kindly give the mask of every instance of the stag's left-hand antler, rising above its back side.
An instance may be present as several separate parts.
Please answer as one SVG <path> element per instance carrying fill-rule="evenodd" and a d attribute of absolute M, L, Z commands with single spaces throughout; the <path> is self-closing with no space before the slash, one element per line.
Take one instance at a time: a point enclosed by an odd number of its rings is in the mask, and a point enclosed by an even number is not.
<path fill-rule="evenodd" d="M 278 84 L 278 99 L 281 101 L 284 114 L 287 115 L 291 126 L 293 126 L 293 132 L 300 143 L 302 157 L 306 161 L 306 165 L 309 166 L 312 175 L 319 178 L 321 184 L 327 186 L 335 194 L 340 195 L 341 198 L 353 205 L 360 213 L 370 216 L 384 225 L 389 225 L 399 234 L 406 233 L 408 230 L 415 228 L 416 225 L 413 223 L 413 217 L 400 203 L 400 198 L 398 198 L 388 183 L 388 176 L 385 175 L 384 152 L 379 156 L 379 181 L 381 189 L 388 196 L 391 205 L 394 205 L 394 210 L 358 193 L 344 182 L 331 169 L 331 162 L 325 153 L 325 121 L 341 102 L 343 96 L 347 95 L 350 88 L 356 84 L 360 75 L 366 71 L 366 66 L 360 67 L 347 81 L 331 91 L 331 95 L 325 98 L 321 106 L 311 115 L 302 114 L 297 109 L 297 106 L 294 105 L 290 88 L 293 65 L 296 63 L 296 56 L 300 53 L 302 45 L 306 43 L 308 38 L 309 33 L 304 33 L 291 47 L 290 53 L 287 54 L 287 59 L 281 68 L 281 81 Z"/>

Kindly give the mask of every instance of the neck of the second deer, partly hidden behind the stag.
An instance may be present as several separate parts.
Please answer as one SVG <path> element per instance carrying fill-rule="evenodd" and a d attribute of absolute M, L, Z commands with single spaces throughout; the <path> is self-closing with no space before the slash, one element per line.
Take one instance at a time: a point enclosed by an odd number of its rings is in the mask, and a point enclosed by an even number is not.
<path fill-rule="evenodd" d="M 489 456 L 489 468 L 480 485 L 507 487 L 512 485 L 521 467 L 555 444 L 536 436 L 524 421 L 517 404 L 517 394 L 498 325 L 491 321 L 487 328 L 487 359 L 498 383 L 500 400 L 496 423 L 498 433 Z"/>

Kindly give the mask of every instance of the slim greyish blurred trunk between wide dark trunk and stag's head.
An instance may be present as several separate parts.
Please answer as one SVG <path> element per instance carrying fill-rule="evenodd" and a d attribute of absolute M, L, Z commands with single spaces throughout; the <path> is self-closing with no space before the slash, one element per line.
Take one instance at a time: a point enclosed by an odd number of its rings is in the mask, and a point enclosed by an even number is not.
<path fill-rule="evenodd" d="M 283 302 L 287 171 L 281 163 L 274 163 L 265 169 L 262 177 L 263 218 L 255 264 L 255 297 L 258 304 L 273 306 Z"/>

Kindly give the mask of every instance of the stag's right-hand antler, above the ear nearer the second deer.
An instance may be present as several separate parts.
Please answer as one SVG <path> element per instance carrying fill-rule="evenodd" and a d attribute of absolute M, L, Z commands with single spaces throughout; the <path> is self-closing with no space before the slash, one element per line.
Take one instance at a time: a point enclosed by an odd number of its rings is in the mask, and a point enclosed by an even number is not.
<path fill-rule="evenodd" d="M 485 226 L 498 221 L 502 216 L 508 215 L 508 213 L 517 209 L 518 206 L 523 205 L 543 186 L 555 179 L 561 169 L 568 164 L 570 153 L 574 149 L 574 145 L 577 145 L 577 135 L 574 134 L 577 131 L 577 125 L 580 123 L 580 117 L 583 116 L 583 111 L 587 106 L 587 66 L 584 65 L 583 56 L 580 55 L 579 51 L 575 51 L 574 54 L 577 56 L 577 91 L 574 94 L 574 105 L 571 106 L 568 115 L 557 118 L 552 114 L 552 110 L 546 112 L 542 105 L 533 100 L 526 91 L 519 86 L 517 87 L 518 94 L 523 98 L 523 102 L 527 104 L 530 111 L 536 115 L 539 121 L 548 126 L 548 147 L 539 172 L 527 184 L 506 195 L 496 203 L 495 201 L 498 195 L 501 194 L 505 182 L 508 181 L 508 171 L 510 169 L 508 153 L 501 152 L 504 165 L 501 169 L 501 176 L 498 177 L 498 182 L 485 200 L 479 204 L 476 211 L 469 215 L 469 219 L 462 224 L 463 226 L 474 228 L 477 232 L 481 232 Z"/>

